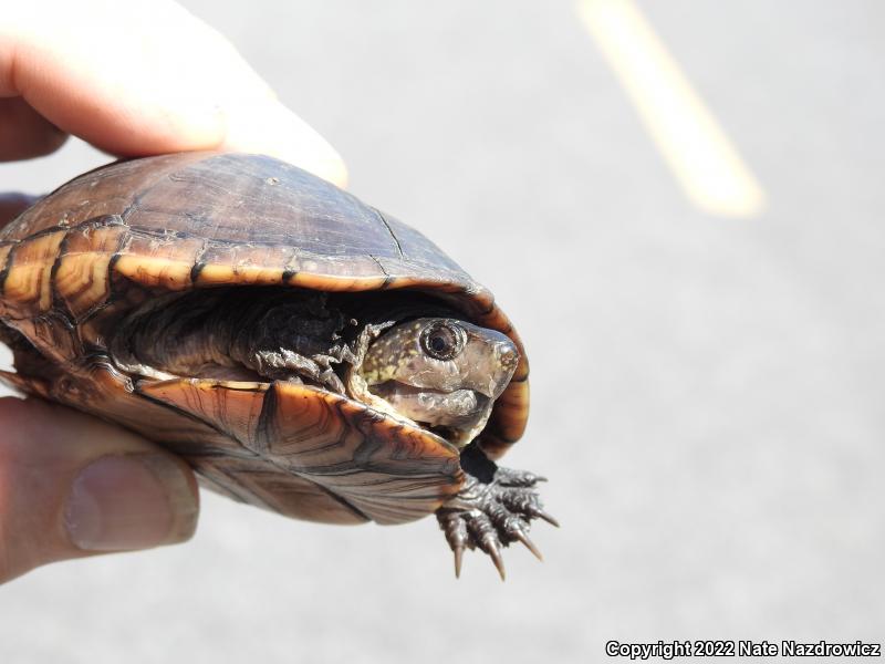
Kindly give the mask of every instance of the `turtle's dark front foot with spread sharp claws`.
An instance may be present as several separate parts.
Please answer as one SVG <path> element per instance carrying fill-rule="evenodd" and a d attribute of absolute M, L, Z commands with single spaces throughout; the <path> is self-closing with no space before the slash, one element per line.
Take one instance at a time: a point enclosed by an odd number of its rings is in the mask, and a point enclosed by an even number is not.
<path fill-rule="evenodd" d="M 464 489 L 436 512 L 439 527 L 455 553 L 455 575 L 460 577 L 465 549 L 480 549 L 489 554 L 504 579 L 501 549 L 522 542 L 539 560 L 541 552 L 529 539 L 533 519 L 559 527 L 544 511 L 537 490 L 546 481 L 533 473 L 501 468 L 475 446 L 461 454 L 467 475 Z"/>

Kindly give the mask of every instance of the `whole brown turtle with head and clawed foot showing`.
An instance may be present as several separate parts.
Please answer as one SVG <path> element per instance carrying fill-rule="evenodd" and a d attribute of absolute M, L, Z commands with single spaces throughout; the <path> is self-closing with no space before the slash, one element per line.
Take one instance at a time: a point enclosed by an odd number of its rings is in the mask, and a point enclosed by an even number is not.
<path fill-rule="evenodd" d="M 435 513 L 460 574 L 556 526 L 522 436 L 529 364 L 488 289 L 420 232 L 293 165 L 121 160 L 0 231 L 8 385 L 116 422 L 205 487 L 326 523 Z"/>

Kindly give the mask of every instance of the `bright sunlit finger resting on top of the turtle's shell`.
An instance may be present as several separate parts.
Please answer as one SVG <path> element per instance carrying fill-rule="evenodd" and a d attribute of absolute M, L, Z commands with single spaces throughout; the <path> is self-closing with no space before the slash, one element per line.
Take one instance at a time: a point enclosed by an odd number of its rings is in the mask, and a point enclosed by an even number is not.
<path fill-rule="evenodd" d="M 226 39 L 174 2 L 8 9 L 0 96 L 23 96 L 62 131 L 118 155 L 263 152 L 344 184 L 334 148 L 279 104 Z"/>

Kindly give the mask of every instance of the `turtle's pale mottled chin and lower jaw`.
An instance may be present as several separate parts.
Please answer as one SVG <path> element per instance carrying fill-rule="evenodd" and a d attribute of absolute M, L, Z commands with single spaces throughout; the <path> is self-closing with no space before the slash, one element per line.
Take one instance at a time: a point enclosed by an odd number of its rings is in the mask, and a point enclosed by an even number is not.
<path fill-rule="evenodd" d="M 371 387 L 399 415 L 408 417 L 441 435 L 450 443 L 462 446 L 485 426 L 493 400 L 476 390 L 442 392 L 415 387 L 398 381 L 387 381 Z"/>

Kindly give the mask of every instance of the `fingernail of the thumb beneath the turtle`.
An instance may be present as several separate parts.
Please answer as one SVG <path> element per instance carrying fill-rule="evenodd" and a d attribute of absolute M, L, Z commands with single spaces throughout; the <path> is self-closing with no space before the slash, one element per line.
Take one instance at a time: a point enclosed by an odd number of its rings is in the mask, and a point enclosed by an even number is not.
<path fill-rule="evenodd" d="M 197 526 L 197 497 L 179 465 L 158 454 L 107 456 L 74 480 L 64 522 L 85 551 L 183 542 Z"/>

